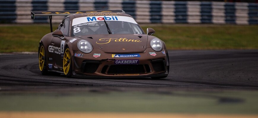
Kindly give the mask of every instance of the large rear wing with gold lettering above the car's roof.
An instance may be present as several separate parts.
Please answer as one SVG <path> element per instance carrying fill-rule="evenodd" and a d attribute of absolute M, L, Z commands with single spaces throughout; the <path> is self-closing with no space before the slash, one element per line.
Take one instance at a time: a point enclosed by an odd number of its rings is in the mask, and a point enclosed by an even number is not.
<path fill-rule="evenodd" d="M 35 16 L 49 16 L 50 28 L 52 30 L 52 16 L 69 16 L 71 14 L 94 13 L 94 12 L 116 12 L 125 13 L 123 10 L 87 10 L 87 11 L 31 11 L 31 19 Z"/>

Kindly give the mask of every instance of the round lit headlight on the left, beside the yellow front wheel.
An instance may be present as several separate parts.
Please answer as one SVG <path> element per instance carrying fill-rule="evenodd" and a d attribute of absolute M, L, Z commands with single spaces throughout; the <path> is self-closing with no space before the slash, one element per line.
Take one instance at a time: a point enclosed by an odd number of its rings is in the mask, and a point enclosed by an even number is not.
<path fill-rule="evenodd" d="M 90 53 L 92 51 L 92 45 L 90 44 L 90 42 L 86 40 L 80 40 L 77 43 L 77 47 L 80 51 L 84 53 Z"/>

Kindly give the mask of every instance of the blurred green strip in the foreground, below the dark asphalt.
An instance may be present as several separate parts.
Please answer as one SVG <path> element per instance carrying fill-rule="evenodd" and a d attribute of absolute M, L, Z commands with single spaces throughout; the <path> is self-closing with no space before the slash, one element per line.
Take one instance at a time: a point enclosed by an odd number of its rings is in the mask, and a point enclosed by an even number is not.
<path fill-rule="evenodd" d="M 258 114 L 257 91 L 0 93 L 0 111 Z"/>

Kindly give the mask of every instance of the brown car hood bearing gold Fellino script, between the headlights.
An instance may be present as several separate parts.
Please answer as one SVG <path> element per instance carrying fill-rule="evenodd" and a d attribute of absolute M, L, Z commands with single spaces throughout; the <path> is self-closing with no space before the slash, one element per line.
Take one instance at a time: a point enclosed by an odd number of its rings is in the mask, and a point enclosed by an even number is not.
<path fill-rule="evenodd" d="M 147 47 L 148 35 L 107 34 L 77 36 L 106 53 L 139 53 Z"/>

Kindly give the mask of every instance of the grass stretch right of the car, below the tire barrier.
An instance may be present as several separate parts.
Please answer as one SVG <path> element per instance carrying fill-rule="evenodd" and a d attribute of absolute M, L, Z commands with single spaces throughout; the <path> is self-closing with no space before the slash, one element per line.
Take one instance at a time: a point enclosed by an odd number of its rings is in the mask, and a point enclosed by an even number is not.
<path fill-rule="evenodd" d="M 151 26 L 168 49 L 258 49 L 258 25 Z M 146 29 L 147 27 L 143 27 Z"/>

